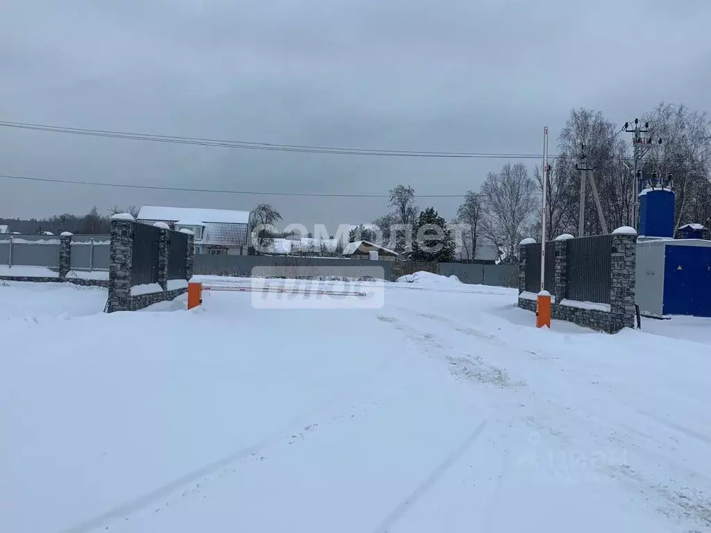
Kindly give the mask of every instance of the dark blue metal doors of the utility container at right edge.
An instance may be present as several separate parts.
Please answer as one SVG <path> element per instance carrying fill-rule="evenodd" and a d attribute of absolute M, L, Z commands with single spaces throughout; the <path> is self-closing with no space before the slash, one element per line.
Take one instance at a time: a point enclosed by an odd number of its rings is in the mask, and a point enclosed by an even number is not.
<path fill-rule="evenodd" d="M 711 247 L 665 247 L 665 315 L 711 316 Z"/>

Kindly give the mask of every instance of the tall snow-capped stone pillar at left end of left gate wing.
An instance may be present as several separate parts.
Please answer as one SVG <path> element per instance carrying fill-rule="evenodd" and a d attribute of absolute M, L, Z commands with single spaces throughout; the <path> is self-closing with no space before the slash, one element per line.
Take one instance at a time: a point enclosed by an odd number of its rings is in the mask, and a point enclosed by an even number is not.
<path fill-rule="evenodd" d="M 130 311 L 134 223 L 134 217 L 128 213 L 119 213 L 111 217 L 107 313 Z"/>

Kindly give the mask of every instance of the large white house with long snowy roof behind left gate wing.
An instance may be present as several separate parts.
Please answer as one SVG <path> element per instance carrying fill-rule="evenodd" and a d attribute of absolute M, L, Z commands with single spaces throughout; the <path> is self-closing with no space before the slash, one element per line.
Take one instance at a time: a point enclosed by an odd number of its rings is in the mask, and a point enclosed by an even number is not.
<path fill-rule="evenodd" d="M 137 220 L 165 222 L 171 230 L 191 230 L 196 254 L 247 255 L 250 247 L 249 211 L 144 205 Z"/>

